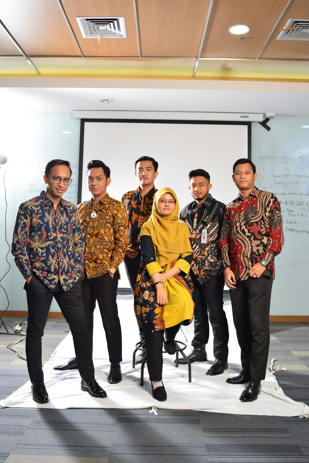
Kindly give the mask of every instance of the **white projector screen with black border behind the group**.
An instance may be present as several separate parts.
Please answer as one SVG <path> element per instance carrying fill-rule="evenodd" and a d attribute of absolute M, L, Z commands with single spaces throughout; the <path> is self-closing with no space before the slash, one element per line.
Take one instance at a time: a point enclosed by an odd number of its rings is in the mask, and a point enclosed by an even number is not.
<path fill-rule="evenodd" d="M 237 194 L 233 163 L 251 158 L 251 123 L 216 121 L 164 121 L 81 119 L 78 202 L 89 199 L 87 164 L 100 159 L 111 169 L 107 193 L 118 200 L 138 187 L 134 163 L 140 156 L 158 161 L 155 187 L 177 194 L 180 209 L 193 201 L 189 171 L 205 169 L 214 198 L 227 204 Z M 129 288 L 123 264 L 119 288 Z"/>

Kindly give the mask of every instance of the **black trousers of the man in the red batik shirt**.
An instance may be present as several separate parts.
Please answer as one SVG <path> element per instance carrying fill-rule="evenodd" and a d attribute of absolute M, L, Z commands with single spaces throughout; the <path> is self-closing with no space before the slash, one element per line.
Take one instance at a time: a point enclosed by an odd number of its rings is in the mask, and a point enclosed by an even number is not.
<path fill-rule="evenodd" d="M 272 280 L 268 276 L 237 281 L 230 290 L 242 368 L 252 380 L 265 379 L 269 351 Z"/>

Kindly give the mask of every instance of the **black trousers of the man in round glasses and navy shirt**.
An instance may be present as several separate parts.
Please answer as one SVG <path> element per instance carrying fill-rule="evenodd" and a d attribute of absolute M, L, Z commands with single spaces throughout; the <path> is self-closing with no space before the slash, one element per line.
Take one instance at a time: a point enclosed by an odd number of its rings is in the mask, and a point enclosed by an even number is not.
<path fill-rule="evenodd" d="M 88 381 L 90 378 L 94 378 L 95 370 L 92 362 L 88 326 L 82 303 L 82 277 L 72 288 L 64 291 L 59 281 L 54 289 L 49 289 L 33 274 L 29 285 L 25 283 L 25 290 L 28 302 L 26 357 L 31 382 L 44 381 L 42 337 L 53 297 L 57 300 L 72 332 L 77 366 L 82 379 Z"/>

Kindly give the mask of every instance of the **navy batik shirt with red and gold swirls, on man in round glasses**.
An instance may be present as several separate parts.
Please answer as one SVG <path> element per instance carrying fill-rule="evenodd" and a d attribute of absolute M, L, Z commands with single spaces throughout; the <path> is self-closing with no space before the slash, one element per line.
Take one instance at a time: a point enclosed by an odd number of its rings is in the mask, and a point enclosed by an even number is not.
<path fill-rule="evenodd" d="M 35 273 L 44 284 L 64 291 L 82 275 L 82 233 L 74 204 L 54 203 L 44 193 L 23 202 L 17 213 L 11 252 L 25 279 Z"/>

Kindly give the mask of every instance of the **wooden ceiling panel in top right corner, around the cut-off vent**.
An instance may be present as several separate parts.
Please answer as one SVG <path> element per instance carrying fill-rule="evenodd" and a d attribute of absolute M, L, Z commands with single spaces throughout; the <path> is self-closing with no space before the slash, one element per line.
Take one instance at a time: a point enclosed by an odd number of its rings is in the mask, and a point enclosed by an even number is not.
<path fill-rule="evenodd" d="M 259 56 L 260 59 L 309 60 L 309 42 L 304 40 L 277 40 L 280 33 L 279 29 L 283 29 L 289 19 L 309 20 L 309 1 L 294 0 L 290 3 Z"/>

